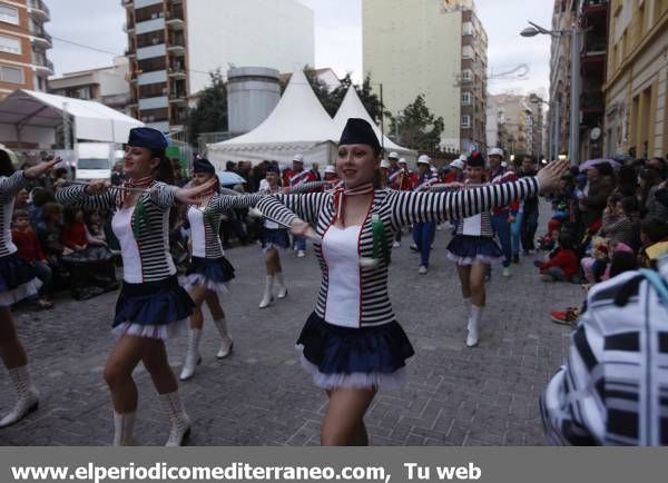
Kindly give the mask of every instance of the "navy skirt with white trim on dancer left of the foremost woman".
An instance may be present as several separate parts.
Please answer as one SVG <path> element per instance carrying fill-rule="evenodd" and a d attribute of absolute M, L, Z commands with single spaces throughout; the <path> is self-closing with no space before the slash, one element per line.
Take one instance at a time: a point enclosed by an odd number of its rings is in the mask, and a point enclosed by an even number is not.
<path fill-rule="evenodd" d="M 114 334 L 170 338 L 186 328 L 195 303 L 173 275 L 158 282 L 122 283 Z"/>

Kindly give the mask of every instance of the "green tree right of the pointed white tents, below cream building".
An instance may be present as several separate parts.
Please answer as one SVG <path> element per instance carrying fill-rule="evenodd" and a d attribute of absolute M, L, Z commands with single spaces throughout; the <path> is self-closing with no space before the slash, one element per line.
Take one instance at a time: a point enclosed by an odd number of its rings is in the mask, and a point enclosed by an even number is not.
<path fill-rule="evenodd" d="M 400 146 L 422 151 L 438 150 L 445 122 L 429 110 L 423 95 L 406 106 L 401 116 L 390 115 L 390 131 L 399 134 L 395 142 Z"/>

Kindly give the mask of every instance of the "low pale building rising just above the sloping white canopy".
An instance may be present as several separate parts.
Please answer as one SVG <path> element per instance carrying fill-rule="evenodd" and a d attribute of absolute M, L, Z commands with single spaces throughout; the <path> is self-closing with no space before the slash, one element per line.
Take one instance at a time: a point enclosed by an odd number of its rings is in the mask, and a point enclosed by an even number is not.
<path fill-rule="evenodd" d="M 68 72 L 49 79 L 49 92 L 75 99 L 96 100 L 111 109 L 129 114 L 128 72 L 128 59 L 117 57 L 110 67 Z"/>

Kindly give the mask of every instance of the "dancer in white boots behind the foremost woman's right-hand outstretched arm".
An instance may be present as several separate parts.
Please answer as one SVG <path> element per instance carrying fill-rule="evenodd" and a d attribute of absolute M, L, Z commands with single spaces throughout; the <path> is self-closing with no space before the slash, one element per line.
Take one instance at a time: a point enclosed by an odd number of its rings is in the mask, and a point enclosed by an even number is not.
<path fill-rule="evenodd" d="M 483 172 L 484 158 L 480 152 L 473 151 L 466 161 L 466 183 L 482 184 Z M 483 211 L 460 219 L 446 253 L 448 258 L 456 263 L 456 273 L 469 317 L 466 346 L 473 347 L 478 345 L 480 321 L 487 298 L 484 279 L 488 267 L 503 256 L 503 252 L 494 241 L 492 214 Z"/>

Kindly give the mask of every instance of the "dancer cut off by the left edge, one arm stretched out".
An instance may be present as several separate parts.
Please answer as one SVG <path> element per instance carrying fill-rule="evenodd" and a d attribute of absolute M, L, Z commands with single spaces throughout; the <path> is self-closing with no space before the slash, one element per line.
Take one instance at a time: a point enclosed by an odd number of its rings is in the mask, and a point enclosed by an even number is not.
<path fill-rule="evenodd" d="M 21 421 L 37 411 L 39 393 L 28 371 L 28 356 L 19 341 L 10 307 L 37 294 L 40 283 L 30 265 L 19 257 L 11 240 L 11 214 L 14 197 L 30 179 L 45 175 L 60 162 L 53 159 L 22 171 L 14 171 L 11 158 L 0 150 L 0 358 L 9 372 L 17 392 L 17 402 L 9 414 L 0 418 L 0 427 Z"/>

